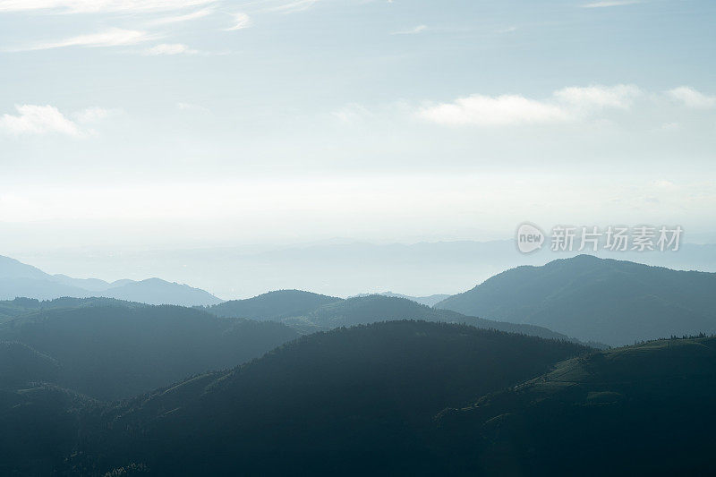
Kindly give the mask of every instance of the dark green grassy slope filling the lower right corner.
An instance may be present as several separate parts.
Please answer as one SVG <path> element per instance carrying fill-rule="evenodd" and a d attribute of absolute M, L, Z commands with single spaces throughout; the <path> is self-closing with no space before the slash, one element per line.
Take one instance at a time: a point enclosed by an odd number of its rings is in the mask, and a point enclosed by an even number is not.
<path fill-rule="evenodd" d="M 661 340 L 446 410 L 436 441 L 457 474 L 713 475 L 714 393 L 716 338 Z"/>

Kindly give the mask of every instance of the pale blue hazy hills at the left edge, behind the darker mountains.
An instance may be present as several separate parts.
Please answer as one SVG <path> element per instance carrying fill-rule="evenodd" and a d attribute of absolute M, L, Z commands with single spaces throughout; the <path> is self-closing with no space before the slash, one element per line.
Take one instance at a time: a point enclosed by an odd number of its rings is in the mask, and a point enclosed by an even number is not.
<path fill-rule="evenodd" d="M 105 296 L 132 302 L 182 306 L 222 302 L 200 288 L 170 283 L 159 278 L 141 281 L 125 279 L 108 283 L 97 278 L 49 275 L 39 268 L 0 256 L 0 300 L 12 300 L 18 296 L 38 300 L 52 300 L 62 296 Z"/>

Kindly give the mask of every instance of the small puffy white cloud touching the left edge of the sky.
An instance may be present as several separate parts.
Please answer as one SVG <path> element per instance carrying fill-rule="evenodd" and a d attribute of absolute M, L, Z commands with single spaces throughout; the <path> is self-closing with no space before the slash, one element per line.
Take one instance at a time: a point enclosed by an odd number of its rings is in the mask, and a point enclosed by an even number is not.
<path fill-rule="evenodd" d="M 15 135 L 57 132 L 80 137 L 83 134 L 79 126 L 67 119 L 55 106 L 22 105 L 15 106 L 15 109 L 18 115 L 0 117 L 0 130 Z"/>

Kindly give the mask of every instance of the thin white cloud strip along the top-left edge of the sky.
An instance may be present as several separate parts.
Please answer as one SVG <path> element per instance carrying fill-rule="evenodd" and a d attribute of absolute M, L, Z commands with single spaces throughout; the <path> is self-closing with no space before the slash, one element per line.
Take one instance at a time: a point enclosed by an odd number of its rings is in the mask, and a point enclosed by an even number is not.
<path fill-rule="evenodd" d="M 0 0 L 0 12 L 158 12 L 213 4 L 216 0 Z"/>

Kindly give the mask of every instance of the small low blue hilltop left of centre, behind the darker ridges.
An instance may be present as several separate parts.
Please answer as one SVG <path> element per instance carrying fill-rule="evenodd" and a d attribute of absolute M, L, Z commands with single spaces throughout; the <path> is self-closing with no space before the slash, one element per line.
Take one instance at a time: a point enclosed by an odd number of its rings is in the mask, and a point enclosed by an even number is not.
<path fill-rule="evenodd" d="M 334 296 L 302 290 L 277 290 L 246 300 L 229 300 L 210 306 L 207 311 L 220 317 L 280 320 L 302 315 L 327 303 L 341 301 L 341 298 Z"/>

